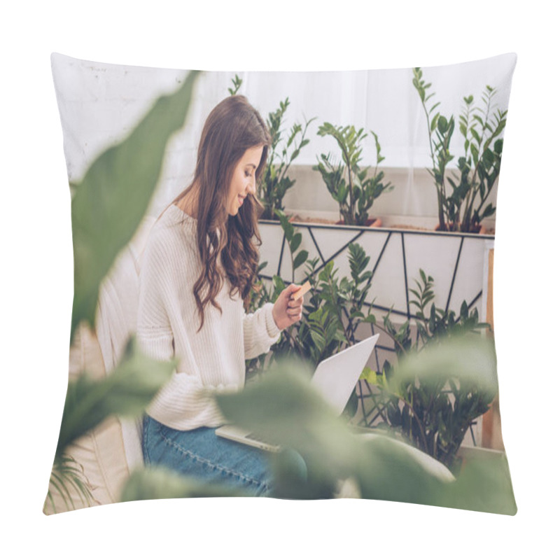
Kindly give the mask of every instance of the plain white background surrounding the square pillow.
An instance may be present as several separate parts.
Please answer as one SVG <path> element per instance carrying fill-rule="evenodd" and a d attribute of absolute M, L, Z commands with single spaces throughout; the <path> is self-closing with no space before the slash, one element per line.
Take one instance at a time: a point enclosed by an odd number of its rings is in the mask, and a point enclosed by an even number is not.
<path fill-rule="evenodd" d="M 556 552 L 556 17 L 544 0 L 15 2 L 0 29 L 0 551 L 8 557 L 533 558 Z M 366 500 L 172 500 L 41 513 L 66 392 L 70 196 L 50 52 L 211 70 L 352 70 L 517 52 L 498 207 L 495 323 L 519 512 Z M 556 144 L 554 144 L 556 142 Z M 531 308 L 521 314 L 521 299 Z M 251 537 L 246 540 L 246 535 Z M 3 550 L 2 550 L 3 549 Z"/>

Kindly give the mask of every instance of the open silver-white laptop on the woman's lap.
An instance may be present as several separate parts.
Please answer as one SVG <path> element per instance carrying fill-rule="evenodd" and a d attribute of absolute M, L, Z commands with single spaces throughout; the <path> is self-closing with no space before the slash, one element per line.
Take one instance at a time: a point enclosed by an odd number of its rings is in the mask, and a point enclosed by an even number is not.
<path fill-rule="evenodd" d="M 342 414 L 378 338 L 379 334 L 366 338 L 326 358 L 319 363 L 311 377 L 311 386 L 330 402 L 337 414 Z M 230 424 L 218 428 L 216 435 L 265 451 L 280 450 L 279 445 L 262 440 L 251 431 Z"/>

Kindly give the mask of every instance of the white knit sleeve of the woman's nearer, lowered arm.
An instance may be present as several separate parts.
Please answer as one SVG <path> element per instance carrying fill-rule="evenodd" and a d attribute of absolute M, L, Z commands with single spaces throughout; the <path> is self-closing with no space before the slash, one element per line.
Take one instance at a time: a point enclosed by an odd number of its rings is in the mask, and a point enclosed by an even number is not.
<path fill-rule="evenodd" d="M 137 336 L 141 349 L 148 356 L 156 360 L 170 360 L 175 356 L 167 310 L 174 291 L 168 274 L 172 270 L 172 262 L 169 262 L 165 244 L 158 243 L 158 239 L 151 241 L 146 246 L 140 273 Z M 188 365 L 188 370 L 175 371 L 155 395 L 146 412 L 166 426 L 190 429 L 193 425 L 209 421 L 209 410 L 214 411 L 214 405 L 203 393 L 192 353 L 182 363 L 183 366 Z"/>

